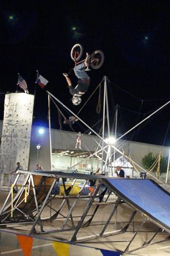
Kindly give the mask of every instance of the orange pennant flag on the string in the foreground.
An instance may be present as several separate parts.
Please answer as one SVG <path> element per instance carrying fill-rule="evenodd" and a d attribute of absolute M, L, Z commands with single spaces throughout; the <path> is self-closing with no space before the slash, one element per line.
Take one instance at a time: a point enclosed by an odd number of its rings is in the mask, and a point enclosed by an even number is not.
<path fill-rule="evenodd" d="M 22 236 L 22 235 L 16 235 L 16 236 L 18 237 L 18 241 L 24 256 L 31 256 L 33 238 Z"/>

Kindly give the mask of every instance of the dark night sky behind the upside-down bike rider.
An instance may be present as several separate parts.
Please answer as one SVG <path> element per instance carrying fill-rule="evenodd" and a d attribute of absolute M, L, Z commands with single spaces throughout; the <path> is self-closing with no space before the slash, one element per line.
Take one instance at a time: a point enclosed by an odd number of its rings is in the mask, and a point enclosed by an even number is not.
<path fill-rule="evenodd" d="M 1 5 L 0 92 L 15 92 L 18 73 L 34 93 L 36 70 L 49 80 L 47 90 L 77 113 L 106 75 L 109 115 L 114 126 L 118 104 L 118 133 L 170 100 L 169 93 L 169 1 L 4 1 Z M 92 70 L 91 86 L 80 106 L 73 106 L 63 72 L 74 67 L 70 50 L 81 43 L 86 52 L 101 49 L 103 67 Z M 76 85 L 74 73 L 70 76 Z M 96 113 L 99 90 L 80 117 L 92 126 L 102 118 Z M 103 96 L 103 91 L 101 93 Z M 0 119 L 4 95 L 0 94 Z M 47 94 L 36 87 L 33 123 L 48 126 Z M 69 113 L 63 110 L 66 117 Z M 126 139 L 170 146 L 168 105 Z M 63 119 L 62 119 L 63 121 Z M 52 127 L 59 129 L 57 109 L 52 104 Z M 94 127 L 99 132 L 101 122 Z M 75 131 L 86 132 L 80 123 Z M 63 125 L 63 129 L 70 127 Z"/>

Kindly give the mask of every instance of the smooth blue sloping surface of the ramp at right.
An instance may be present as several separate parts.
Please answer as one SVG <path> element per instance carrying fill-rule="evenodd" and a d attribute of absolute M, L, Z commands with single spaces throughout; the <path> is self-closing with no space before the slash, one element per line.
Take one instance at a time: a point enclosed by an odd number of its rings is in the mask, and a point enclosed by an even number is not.
<path fill-rule="evenodd" d="M 167 191 L 152 180 L 120 178 L 105 181 L 117 196 L 170 233 L 170 194 Z"/>

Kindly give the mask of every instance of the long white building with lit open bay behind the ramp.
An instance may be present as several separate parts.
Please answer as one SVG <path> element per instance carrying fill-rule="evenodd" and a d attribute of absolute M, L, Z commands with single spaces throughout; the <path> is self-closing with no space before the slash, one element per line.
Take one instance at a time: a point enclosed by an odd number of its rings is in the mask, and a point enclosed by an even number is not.
<path fill-rule="evenodd" d="M 0 121 L 0 137 L 2 134 L 2 122 Z M 35 170 L 36 163 L 40 162 L 44 170 L 50 170 L 50 146 L 49 146 L 49 129 L 44 128 L 44 133 L 40 134 L 39 129 L 41 127 L 32 126 L 31 132 L 31 146 L 29 155 L 29 169 Z M 76 133 L 71 131 L 62 131 L 52 129 L 52 166 L 54 170 L 66 170 L 70 166 L 74 166 L 79 163 L 82 159 L 87 158 L 96 151 L 97 143 L 100 139 L 96 135 L 82 135 L 82 149 L 75 150 Z M 40 144 L 40 150 L 37 150 L 37 144 Z M 142 165 L 142 158 L 148 152 L 159 154 L 162 146 L 140 143 L 140 142 L 129 142 L 120 140 L 116 144 L 117 147 L 121 147 L 120 150 L 124 151 L 125 155 L 131 156 L 137 164 Z M 168 157 L 169 148 L 163 147 L 162 155 Z M 92 167 L 97 170 L 97 167 L 101 166 L 101 152 L 96 154 L 91 159 L 87 159 L 85 162 L 78 164 L 73 169 L 87 170 Z M 116 159 L 120 155 L 116 154 Z M 18 159 L 20 162 L 20 159 Z M 113 161 L 113 159 L 112 159 Z M 14 167 L 15 167 L 14 163 Z M 22 163 L 21 163 L 22 164 Z M 118 164 L 121 166 L 121 164 Z"/>

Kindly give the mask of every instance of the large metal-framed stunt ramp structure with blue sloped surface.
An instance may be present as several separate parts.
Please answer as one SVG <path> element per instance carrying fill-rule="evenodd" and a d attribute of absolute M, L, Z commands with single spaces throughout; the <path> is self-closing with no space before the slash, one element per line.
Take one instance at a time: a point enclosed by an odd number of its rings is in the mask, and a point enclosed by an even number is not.
<path fill-rule="evenodd" d="M 59 234 L 62 232 L 69 232 L 67 241 L 73 243 L 82 243 L 83 241 L 91 241 L 108 236 L 121 236 L 123 233 L 131 232 L 132 237 L 130 241 L 126 241 L 128 245 L 121 253 L 130 253 L 141 247 L 150 245 L 154 240 L 156 234 L 165 230 L 170 233 L 170 197 L 169 193 L 160 187 L 152 180 L 142 179 L 122 179 L 111 178 L 100 175 L 83 175 L 64 173 L 59 171 L 19 171 L 20 174 L 25 174 L 25 182 L 19 193 L 14 197 L 11 203 L 11 192 L 8 194 L 5 203 L 0 212 L 0 228 L 10 228 L 19 230 L 19 225 L 25 226 L 25 233 L 29 236 L 33 234 Z M 15 182 L 17 181 L 16 178 Z M 52 195 L 51 192 L 58 179 L 62 180 L 64 188 L 64 195 Z M 71 179 L 73 182 L 66 188 L 66 179 Z M 75 181 L 82 179 L 82 188 L 77 195 L 71 196 L 70 191 L 73 189 Z M 96 180 L 94 190 L 88 196 L 82 196 L 81 192 L 89 180 Z M 27 202 L 24 202 L 25 187 L 27 187 Z M 109 197 L 115 193 L 117 200 L 109 200 Z M 53 199 L 57 205 L 53 207 Z M 86 199 L 81 209 L 80 216 L 76 214 L 76 207 L 78 207 L 79 200 Z M 13 204 L 12 217 L 11 205 Z M 113 225 L 116 224 L 116 213 L 122 204 L 129 205 L 129 215 L 124 217 L 122 225 L 117 228 Z M 92 234 L 88 233 L 88 227 L 95 223 L 96 213 L 101 208 L 109 207 L 107 212 L 107 220 L 100 226 L 99 229 L 94 230 Z M 43 218 L 43 210 L 49 209 L 49 217 Z M 140 222 L 138 226 L 135 222 L 136 213 L 140 213 Z M 52 213 L 52 214 L 51 214 Z M 153 236 L 145 241 L 141 247 L 130 250 L 131 243 L 135 240 L 137 234 L 145 228 L 145 223 L 150 220 L 158 226 L 154 228 Z M 52 229 L 48 222 L 53 222 Z M 96 225 L 96 224 L 95 224 Z M 87 229 L 82 236 L 83 228 Z M 101 230 L 100 230 L 101 229 Z M 109 231 L 107 231 L 107 229 Z M 100 231 L 99 231 L 100 230 Z M 142 231 L 143 232 L 143 231 Z M 146 233 L 148 230 L 146 230 Z M 153 232 L 153 231 L 152 231 Z M 169 236 L 166 238 L 169 240 Z M 61 237 L 62 240 L 62 237 Z M 113 241 L 114 242 L 114 241 Z M 122 241 L 123 242 L 123 241 Z"/>

